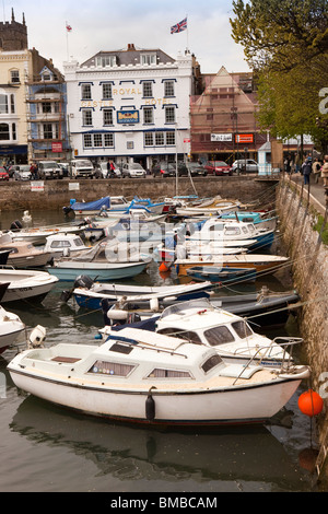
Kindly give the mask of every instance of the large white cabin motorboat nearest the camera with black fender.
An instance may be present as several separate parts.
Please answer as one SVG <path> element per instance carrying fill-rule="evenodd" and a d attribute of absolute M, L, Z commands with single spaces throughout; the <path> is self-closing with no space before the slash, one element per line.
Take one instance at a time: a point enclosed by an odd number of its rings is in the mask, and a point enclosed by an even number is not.
<path fill-rule="evenodd" d="M 263 422 L 309 376 L 307 366 L 227 365 L 213 348 L 132 328 L 101 346 L 38 342 L 8 370 L 20 389 L 83 413 L 192 427 Z"/>

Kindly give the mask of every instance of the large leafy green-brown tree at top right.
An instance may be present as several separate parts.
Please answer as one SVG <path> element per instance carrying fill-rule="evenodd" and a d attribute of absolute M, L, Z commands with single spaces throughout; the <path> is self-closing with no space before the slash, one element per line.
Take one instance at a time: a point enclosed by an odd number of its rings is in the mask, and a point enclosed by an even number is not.
<path fill-rule="evenodd" d="M 258 121 L 280 138 L 327 140 L 319 92 L 328 87 L 327 0 L 234 0 L 232 35 L 258 81 Z M 328 110 L 328 109 L 327 109 Z"/>

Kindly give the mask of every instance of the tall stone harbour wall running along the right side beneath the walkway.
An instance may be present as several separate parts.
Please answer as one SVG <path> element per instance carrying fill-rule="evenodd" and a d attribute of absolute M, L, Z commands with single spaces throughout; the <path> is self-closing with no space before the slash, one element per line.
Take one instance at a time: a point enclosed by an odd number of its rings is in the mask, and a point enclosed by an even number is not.
<path fill-rule="evenodd" d="M 324 399 L 315 418 L 319 451 L 315 470 L 324 488 L 328 484 L 328 246 L 315 230 L 319 215 L 326 215 L 306 189 L 281 182 L 277 189 L 281 233 L 292 262 L 295 289 L 302 301 L 297 312 L 303 353 L 312 369 L 308 387 Z M 325 219 L 325 218 L 324 218 Z M 327 217 L 328 221 L 328 217 Z"/>

